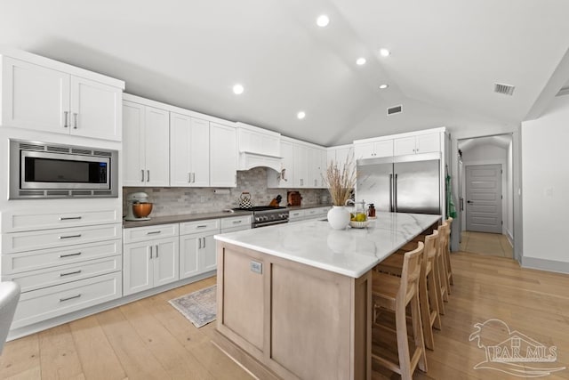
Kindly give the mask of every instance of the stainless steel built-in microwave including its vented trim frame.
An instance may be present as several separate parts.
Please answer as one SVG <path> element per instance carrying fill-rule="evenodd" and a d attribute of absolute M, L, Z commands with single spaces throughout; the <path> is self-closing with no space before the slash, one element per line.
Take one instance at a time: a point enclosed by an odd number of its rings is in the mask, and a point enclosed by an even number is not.
<path fill-rule="evenodd" d="M 10 199 L 118 197 L 118 151 L 10 141 Z"/>

